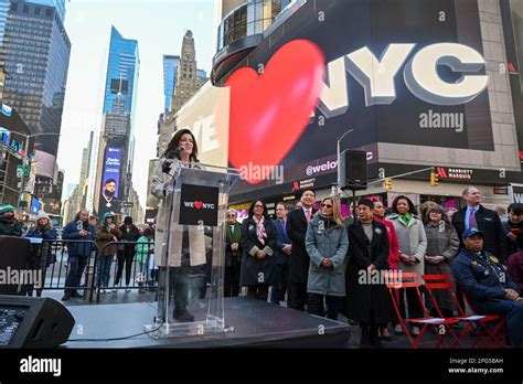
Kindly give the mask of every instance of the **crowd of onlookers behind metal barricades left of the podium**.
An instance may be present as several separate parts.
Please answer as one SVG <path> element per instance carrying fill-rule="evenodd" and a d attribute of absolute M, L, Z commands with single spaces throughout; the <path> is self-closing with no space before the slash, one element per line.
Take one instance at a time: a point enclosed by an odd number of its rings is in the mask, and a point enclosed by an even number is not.
<path fill-rule="evenodd" d="M 58 235 L 45 212 L 41 211 L 33 226 L 24 231 L 22 223 L 15 218 L 14 207 L 10 204 L 0 205 L 0 236 L 2 235 L 44 241 L 31 247 L 31 268 L 45 270 L 51 264 L 56 263 L 56 248 L 53 252 L 52 243 L 58 239 Z M 106 213 L 99 223 L 99 218 L 89 215 L 87 210 L 79 211 L 75 220 L 65 225 L 61 237 L 67 250 L 67 274 L 62 300 L 83 298 L 77 288 L 82 285 L 86 266 L 96 253 L 99 260 L 96 265 L 95 284 L 100 294 L 117 292 L 117 287 L 120 281 L 124 282 L 124 277 L 125 290 L 130 291 L 134 263 L 139 269 L 137 277 L 139 291 L 145 292 L 143 287 L 157 281 L 152 258 L 153 238 L 152 227 L 142 231 L 134 224 L 130 216 L 126 216 L 124 223 L 118 225 L 114 213 Z M 116 274 L 110 289 L 110 271 L 115 259 Z M 41 289 L 38 290 L 38 295 L 41 295 Z"/>

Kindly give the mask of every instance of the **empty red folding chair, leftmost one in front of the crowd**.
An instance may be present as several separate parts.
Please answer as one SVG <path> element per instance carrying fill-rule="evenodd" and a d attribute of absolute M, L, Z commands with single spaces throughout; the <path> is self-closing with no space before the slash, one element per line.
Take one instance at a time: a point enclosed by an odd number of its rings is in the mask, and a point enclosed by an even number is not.
<path fill-rule="evenodd" d="M 391 295 L 391 299 L 394 306 L 394 310 L 396 311 L 396 316 L 399 320 L 399 323 L 402 324 L 403 330 L 405 331 L 405 334 L 407 335 L 410 345 L 413 349 L 416 349 L 425 332 L 429 327 L 433 328 L 434 333 L 438 338 L 438 342 L 436 344 L 436 348 L 447 348 L 447 344 L 445 343 L 445 340 L 447 337 L 450 334 L 450 337 L 455 340 L 458 341 L 459 344 L 459 339 L 456 335 L 456 333 L 452 331 L 450 324 L 455 324 L 458 322 L 456 319 L 445 319 L 445 318 L 434 318 L 430 317 L 427 312 L 427 309 L 425 308 L 425 303 L 423 302 L 421 294 L 419 291 L 419 281 L 417 280 L 417 274 L 416 273 L 403 273 L 403 271 L 397 271 L 397 273 L 388 273 L 385 274 L 385 281 L 386 286 L 388 288 L 388 294 Z M 420 308 L 423 309 L 423 312 L 425 314 L 424 318 L 415 318 L 415 319 L 404 319 L 402 314 L 399 313 L 399 302 L 396 298 L 395 291 L 396 289 L 401 288 L 414 288 L 416 289 L 416 296 L 419 301 Z M 413 334 L 408 330 L 406 323 L 413 323 L 416 324 L 417 327 L 421 327 L 419 330 L 419 334 L 416 338 L 413 338 Z M 441 326 L 445 327 L 445 332 L 440 332 Z M 447 331 L 448 330 L 448 331 Z M 456 343 L 455 343 L 456 344 Z"/>

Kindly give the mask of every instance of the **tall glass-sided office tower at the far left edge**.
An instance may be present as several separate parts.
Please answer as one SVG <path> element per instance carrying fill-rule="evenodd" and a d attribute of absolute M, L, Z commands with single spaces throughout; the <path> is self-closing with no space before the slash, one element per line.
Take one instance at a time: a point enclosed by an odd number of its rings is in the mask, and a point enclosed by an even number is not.
<path fill-rule="evenodd" d="M 54 7 L 11 0 L 0 65 L 8 78 L 3 103 L 15 108 L 32 132 L 60 132 L 71 42 Z M 35 149 L 56 157 L 58 140 L 35 139 Z"/>

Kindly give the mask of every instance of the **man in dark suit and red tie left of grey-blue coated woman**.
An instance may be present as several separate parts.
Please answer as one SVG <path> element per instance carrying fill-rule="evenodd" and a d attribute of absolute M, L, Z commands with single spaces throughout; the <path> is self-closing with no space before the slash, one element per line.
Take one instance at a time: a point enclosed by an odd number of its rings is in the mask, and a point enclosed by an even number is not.
<path fill-rule="evenodd" d="M 301 193 L 301 207 L 289 213 L 287 217 L 287 235 L 291 241 L 290 253 L 290 305 L 291 308 L 305 311 L 307 301 L 307 279 L 310 258 L 305 246 L 307 225 L 316 211 L 316 193 L 305 190 Z"/>

